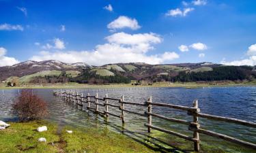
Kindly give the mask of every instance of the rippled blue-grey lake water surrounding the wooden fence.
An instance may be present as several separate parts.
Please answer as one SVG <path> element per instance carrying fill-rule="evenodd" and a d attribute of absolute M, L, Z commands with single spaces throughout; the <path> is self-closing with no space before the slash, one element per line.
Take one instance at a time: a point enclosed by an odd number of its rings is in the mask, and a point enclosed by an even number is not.
<path fill-rule="evenodd" d="M 97 116 L 93 112 L 81 111 L 76 109 L 76 106 L 72 105 L 72 103 L 61 101 L 59 97 L 53 96 L 53 90 L 54 89 L 33 89 L 34 93 L 40 95 L 40 97 L 48 103 L 50 113 L 48 120 L 71 126 L 102 126 L 113 131 L 127 129 L 128 131 L 147 133 L 147 128 L 143 126 L 143 124 L 147 123 L 147 118 L 145 117 L 126 113 L 126 123 L 124 126 L 122 126 L 122 121 L 114 116 L 109 116 L 108 122 L 105 122 L 104 118 Z M 109 97 L 115 98 L 120 98 L 124 95 L 125 101 L 139 103 L 143 103 L 152 96 L 153 102 L 171 103 L 188 107 L 192 107 L 193 100 L 198 99 L 199 108 L 202 113 L 256 122 L 256 87 L 213 87 L 195 89 L 114 88 L 109 90 L 83 88 L 77 90 L 83 92 L 84 95 L 86 95 L 87 92 L 89 92 L 90 95 L 95 95 L 96 92 L 98 92 L 99 97 L 104 97 L 106 93 Z M 3 90 L 0 92 L 0 120 L 16 120 L 16 117 L 12 115 L 11 107 L 18 92 L 18 89 Z M 109 103 L 116 102 L 109 101 Z M 116 104 L 118 105 L 118 103 Z M 125 105 L 125 107 L 126 109 L 141 113 L 147 110 L 147 107 L 143 106 Z M 100 107 L 100 110 L 103 112 L 104 108 Z M 154 113 L 164 116 L 182 118 L 189 121 L 193 120 L 186 112 L 178 111 L 177 109 L 153 106 L 152 110 Z M 112 107 L 109 107 L 109 112 L 120 114 L 119 110 Z M 187 130 L 188 126 L 183 124 L 167 122 L 154 117 L 152 123 L 156 126 L 165 127 L 166 129 L 193 136 L 193 133 Z M 244 141 L 256 143 L 256 129 L 239 126 L 237 124 L 206 120 L 203 118 L 199 118 L 199 123 L 203 129 L 216 131 Z M 246 150 L 233 143 L 225 143 L 225 141 L 220 141 L 210 136 L 200 134 L 200 137 L 202 146 L 212 145 L 212 148 L 218 148 L 225 152 L 253 152 L 253 150 Z M 165 136 L 163 139 L 167 139 L 167 137 Z"/>

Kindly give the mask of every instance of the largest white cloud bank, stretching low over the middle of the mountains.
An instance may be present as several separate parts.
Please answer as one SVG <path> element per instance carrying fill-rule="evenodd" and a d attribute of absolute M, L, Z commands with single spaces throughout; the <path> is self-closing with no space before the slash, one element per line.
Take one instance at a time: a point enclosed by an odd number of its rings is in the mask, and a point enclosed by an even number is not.
<path fill-rule="evenodd" d="M 104 65 L 107 63 L 132 63 L 144 62 L 159 64 L 179 58 L 175 52 L 147 55 L 154 49 L 154 44 L 159 44 L 161 38 L 154 33 L 115 33 L 105 38 L 108 43 L 96 46 L 94 50 L 48 52 L 42 51 L 39 55 L 32 56 L 33 61 L 57 59 L 66 63 L 85 62 L 89 65 Z"/>

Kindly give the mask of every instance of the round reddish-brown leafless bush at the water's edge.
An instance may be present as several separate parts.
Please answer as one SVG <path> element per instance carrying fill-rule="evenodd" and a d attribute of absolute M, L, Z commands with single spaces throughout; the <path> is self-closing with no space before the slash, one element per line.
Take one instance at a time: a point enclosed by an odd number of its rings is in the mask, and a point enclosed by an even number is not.
<path fill-rule="evenodd" d="M 20 121 L 42 119 L 48 114 L 46 102 L 32 90 L 22 90 L 12 107 Z"/>

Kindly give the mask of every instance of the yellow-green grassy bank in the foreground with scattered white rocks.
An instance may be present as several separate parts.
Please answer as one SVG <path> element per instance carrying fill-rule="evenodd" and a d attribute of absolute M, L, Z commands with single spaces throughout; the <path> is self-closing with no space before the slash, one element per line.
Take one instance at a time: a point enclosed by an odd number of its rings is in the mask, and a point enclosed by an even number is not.
<path fill-rule="evenodd" d="M 0 131 L 0 152 L 155 152 L 106 129 L 74 129 L 45 121 L 9 123 L 8 129 Z M 47 126 L 48 131 L 39 133 L 35 130 L 42 125 Z M 40 137 L 45 137 L 46 142 L 39 142 Z"/>

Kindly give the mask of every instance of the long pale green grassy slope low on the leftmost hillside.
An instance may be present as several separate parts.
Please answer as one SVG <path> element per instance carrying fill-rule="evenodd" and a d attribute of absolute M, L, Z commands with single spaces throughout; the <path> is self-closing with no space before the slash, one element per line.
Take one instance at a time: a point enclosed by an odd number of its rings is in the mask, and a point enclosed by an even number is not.
<path fill-rule="evenodd" d="M 19 79 L 19 82 L 20 83 L 26 83 L 26 82 L 29 82 L 33 77 L 37 77 L 37 76 L 42 76 L 42 77 L 45 76 L 45 75 L 47 75 L 47 76 L 58 76 L 60 74 L 61 74 L 61 71 L 55 71 L 55 70 L 53 70 L 53 71 L 40 71 L 38 73 L 33 73 L 31 75 L 25 75 L 25 76 L 21 77 Z"/>

